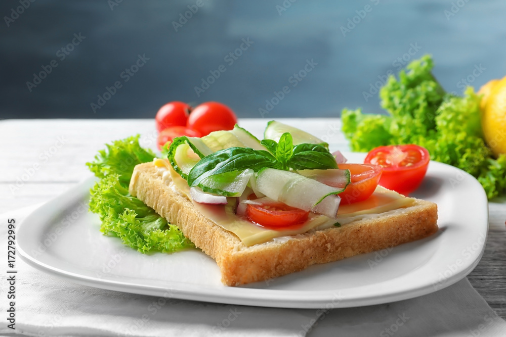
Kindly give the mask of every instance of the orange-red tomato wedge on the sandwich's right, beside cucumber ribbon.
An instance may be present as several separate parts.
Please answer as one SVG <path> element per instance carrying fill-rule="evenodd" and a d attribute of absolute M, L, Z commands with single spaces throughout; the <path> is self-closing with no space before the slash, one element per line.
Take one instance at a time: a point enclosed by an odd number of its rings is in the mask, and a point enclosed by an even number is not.
<path fill-rule="evenodd" d="M 353 204 L 369 198 L 382 176 L 382 167 L 379 165 L 338 164 L 338 167 L 350 170 L 351 173 L 351 182 L 339 194 L 342 205 Z"/>

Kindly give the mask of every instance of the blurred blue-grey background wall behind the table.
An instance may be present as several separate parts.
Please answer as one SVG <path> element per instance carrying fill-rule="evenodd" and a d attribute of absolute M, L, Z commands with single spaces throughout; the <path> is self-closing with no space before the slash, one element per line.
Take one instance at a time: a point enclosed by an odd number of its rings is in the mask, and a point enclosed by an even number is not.
<path fill-rule="evenodd" d="M 448 91 L 461 93 L 462 79 L 479 87 L 506 75 L 500 0 L 201 1 L 21 0 L 23 10 L 19 0 L 3 1 L 0 118 L 153 117 L 174 100 L 219 101 L 239 117 L 270 119 L 335 117 L 344 107 L 378 113 L 374 85 L 426 53 Z M 139 55 L 145 64 L 130 76 Z M 34 79 L 43 67 L 51 73 Z"/>

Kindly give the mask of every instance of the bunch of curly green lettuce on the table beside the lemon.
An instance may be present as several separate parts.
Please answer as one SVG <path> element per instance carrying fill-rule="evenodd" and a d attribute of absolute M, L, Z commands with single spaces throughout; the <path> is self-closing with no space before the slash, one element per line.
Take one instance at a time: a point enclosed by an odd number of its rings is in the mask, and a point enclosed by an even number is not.
<path fill-rule="evenodd" d="M 353 151 L 368 152 L 383 145 L 414 143 L 429 150 L 431 159 L 475 176 L 487 197 L 506 193 L 506 159 L 494 159 L 483 139 L 480 96 L 472 87 L 462 97 L 445 93 L 426 55 L 390 76 L 380 90 L 388 115 L 344 109 L 342 130 Z"/>

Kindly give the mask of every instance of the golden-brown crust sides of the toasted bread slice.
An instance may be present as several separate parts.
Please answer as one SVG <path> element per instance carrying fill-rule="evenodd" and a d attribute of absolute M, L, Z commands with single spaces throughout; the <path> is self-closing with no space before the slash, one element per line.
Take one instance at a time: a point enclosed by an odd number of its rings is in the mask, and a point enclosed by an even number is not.
<path fill-rule="evenodd" d="M 247 247 L 233 233 L 202 216 L 169 185 L 153 163 L 135 167 L 130 193 L 177 225 L 196 247 L 216 260 L 226 285 L 269 280 L 307 267 L 338 261 L 427 237 L 438 230 L 437 205 L 416 199 L 402 212 L 353 221 L 341 227 Z"/>

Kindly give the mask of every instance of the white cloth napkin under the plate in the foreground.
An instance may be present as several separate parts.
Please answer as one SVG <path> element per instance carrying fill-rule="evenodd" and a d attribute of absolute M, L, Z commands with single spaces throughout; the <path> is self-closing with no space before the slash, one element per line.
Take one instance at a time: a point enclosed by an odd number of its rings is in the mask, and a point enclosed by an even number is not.
<path fill-rule="evenodd" d="M 7 219 L 0 216 L 7 260 Z M 7 268 L 6 268 L 7 269 Z M 499 318 L 467 279 L 423 297 L 347 309 L 278 309 L 164 299 L 74 284 L 16 256 L 16 323 L 7 327 L 4 269 L 0 335 L 29 336 L 506 336 Z"/>

